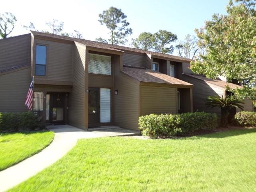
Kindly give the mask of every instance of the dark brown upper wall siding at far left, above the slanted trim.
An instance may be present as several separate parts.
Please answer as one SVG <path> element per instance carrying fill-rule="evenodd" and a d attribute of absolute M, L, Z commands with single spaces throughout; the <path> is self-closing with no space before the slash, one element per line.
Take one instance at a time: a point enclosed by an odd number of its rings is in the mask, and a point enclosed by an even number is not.
<path fill-rule="evenodd" d="M 0 71 L 30 64 L 30 34 L 0 40 Z"/>

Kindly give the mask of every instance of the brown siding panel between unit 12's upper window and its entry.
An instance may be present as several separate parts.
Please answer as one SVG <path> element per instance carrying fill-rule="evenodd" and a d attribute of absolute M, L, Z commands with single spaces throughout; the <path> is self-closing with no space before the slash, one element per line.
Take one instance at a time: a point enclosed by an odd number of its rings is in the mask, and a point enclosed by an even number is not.
<path fill-rule="evenodd" d="M 89 74 L 89 87 L 112 88 L 113 77 L 100 74 Z"/>

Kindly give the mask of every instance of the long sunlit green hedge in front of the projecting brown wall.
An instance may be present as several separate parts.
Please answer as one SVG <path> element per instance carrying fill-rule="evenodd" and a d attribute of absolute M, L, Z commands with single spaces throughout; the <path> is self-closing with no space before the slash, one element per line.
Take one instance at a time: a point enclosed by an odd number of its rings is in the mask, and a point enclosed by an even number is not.
<path fill-rule="evenodd" d="M 205 112 L 150 114 L 140 116 L 139 128 L 145 136 L 177 136 L 217 127 L 217 115 Z"/>

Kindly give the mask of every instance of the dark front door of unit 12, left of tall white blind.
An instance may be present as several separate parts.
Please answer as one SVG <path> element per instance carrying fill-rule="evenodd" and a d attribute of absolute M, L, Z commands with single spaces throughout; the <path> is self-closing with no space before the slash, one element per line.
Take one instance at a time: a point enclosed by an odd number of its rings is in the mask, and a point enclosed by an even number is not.
<path fill-rule="evenodd" d="M 88 104 L 89 124 L 100 123 L 100 88 L 89 88 Z"/>

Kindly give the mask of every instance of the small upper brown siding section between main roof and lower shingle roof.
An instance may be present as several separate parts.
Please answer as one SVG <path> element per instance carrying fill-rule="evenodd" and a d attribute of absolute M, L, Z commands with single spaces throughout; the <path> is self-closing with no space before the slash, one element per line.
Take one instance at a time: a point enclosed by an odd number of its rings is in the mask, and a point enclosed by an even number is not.
<path fill-rule="evenodd" d="M 124 65 L 139 66 L 139 67 L 145 67 L 145 68 L 148 67 L 145 54 L 139 55 L 139 54 L 124 53 L 123 59 L 124 59 L 123 61 Z"/>

